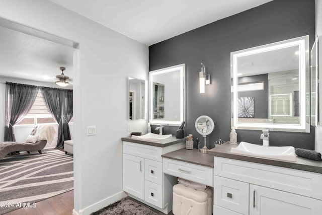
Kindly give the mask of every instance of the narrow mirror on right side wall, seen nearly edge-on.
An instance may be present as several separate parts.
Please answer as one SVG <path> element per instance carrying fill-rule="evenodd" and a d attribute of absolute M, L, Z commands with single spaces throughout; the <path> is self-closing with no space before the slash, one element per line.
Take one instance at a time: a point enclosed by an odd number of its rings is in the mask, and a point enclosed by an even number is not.
<path fill-rule="evenodd" d="M 318 38 L 315 39 L 311 50 L 311 125 L 318 124 Z"/>

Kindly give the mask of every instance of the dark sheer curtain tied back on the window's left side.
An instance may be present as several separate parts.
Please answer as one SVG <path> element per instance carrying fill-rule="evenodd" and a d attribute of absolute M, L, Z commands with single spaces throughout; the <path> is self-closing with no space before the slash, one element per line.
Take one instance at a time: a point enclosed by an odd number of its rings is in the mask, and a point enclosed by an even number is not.
<path fill-rule="evenodd" d="M 37 86 L 6 82 L 5 141 L 16 141 L 13 126 L 28 113 L 38 90 Z"/>

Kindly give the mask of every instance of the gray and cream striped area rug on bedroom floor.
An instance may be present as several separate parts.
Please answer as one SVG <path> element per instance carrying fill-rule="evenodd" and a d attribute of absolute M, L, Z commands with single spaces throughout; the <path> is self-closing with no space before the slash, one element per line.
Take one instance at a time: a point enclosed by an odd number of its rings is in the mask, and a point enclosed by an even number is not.
<path fill-rule="evenodd" d="M 0 160 L 0 214 L 73 189 L 73 157 L 60 150 Z"/>

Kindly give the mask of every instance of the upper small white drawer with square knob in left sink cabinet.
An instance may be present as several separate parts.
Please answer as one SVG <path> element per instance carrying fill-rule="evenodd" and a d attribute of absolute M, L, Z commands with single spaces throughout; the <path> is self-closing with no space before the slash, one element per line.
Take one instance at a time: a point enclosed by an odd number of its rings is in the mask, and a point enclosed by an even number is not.
<path fill-rule="evenodd" d="M 162 162 L 145 159 L 144 179 L 155 184 L 162 185 Z"/>

